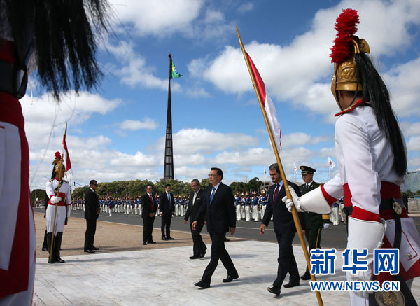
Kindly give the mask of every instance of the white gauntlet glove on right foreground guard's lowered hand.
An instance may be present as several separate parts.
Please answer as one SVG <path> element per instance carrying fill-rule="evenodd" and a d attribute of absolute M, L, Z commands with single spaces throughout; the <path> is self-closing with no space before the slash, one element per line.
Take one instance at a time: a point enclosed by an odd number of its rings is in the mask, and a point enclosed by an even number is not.
<path fill-rule="evenodd" d="M 357 271 L 356 274 L 346 272 L 349 281 L 371 281 L 373 277 L 373 250 L 379 249 L 382 245 L 386 230 L 386 221 L 380 219 L 380 222 L 364 221 L 349 217 L 349 237 L 347 238 L 347 249 L 358 249 L 362 251 L 367 249 L 367 271 Z M 369 235 L 366 235 L 366 233 Z M 349 260 L 353 263 L 353 253 L 350 252 Z M 362 259 L 362 258 L 361 258 Z M 354 291 L 362 298 L 367 298 L 368 291 Z"/>

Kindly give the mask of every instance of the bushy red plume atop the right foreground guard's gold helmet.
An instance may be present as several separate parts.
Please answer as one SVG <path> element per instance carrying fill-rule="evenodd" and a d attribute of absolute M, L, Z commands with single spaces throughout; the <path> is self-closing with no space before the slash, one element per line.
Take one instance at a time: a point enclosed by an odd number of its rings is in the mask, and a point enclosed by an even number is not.
<path fill-rule="evenodd" d="M 356 10 L 346 8 L 343 13 L 339 14 L 335 22 L 337 36 L 334 39 L 334 46 L 331 48 L 331 62 L 341 63 L 347 57 L 353 54 L 351 39 L 357 32 L 356 24 L 359 23 L 358 13 Z"/>

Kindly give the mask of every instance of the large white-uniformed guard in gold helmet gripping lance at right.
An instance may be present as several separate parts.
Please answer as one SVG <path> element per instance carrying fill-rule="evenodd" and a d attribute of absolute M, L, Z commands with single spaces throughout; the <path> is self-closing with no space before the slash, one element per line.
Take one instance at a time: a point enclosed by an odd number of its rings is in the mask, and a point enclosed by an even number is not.
<path fill-rule="evenodd" d="M 370 47 L 354 35 L 357 23 L 355 10 L 339 15 L 330 55 L 335 63 L 331 91 L 341 110 L 335 122 L 339 172 L 302 197 L 292 188 L 290 193 L 297 211 L 318 214 L 329 213 L 330 205 L 344 197 L 347 248 L 367 250 L 363 254 L 367 270 L 347 272 L 348 281 L 376 280 L 380 286 L 384 281 L 399 281 L 400 291 L 350 291 L 352 306 L 416 305 L 409 288 L 420 275 L 420 237 L 401 199 L 400 185 L 407 173 L 405 140 L 388 89 L 368 55 Z M 393 98 L 398 103 L 398 96 Z M 284 197 L 283 201 L 291 209 L 292 200 Z M 373 274 L 374 249 L 379 248 L 400 250 L 398 274 Z M 349 260 L 356 263 L 357 258 Z"/>

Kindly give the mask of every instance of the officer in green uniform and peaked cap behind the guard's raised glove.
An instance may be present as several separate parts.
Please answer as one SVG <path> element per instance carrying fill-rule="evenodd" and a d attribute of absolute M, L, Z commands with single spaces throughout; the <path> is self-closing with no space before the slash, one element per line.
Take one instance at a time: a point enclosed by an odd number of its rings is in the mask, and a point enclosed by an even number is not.
<path fill-rule="evenodd" d="M 300 192 L 302 195 L 308 193 L 311 190 L 318 188 L 321 184 L 314 181 L 314 172 L 316 169 L 308 166 L 300 166 L 302 174 L 302 179 L 304 184 L 300 186 Z M 328 228 L 330 225 L 330 215 L 329 214 L 316 214 L 314 212 L 305 212 L 304 220 L 306 224 L 304 235 L 307 237 L 307 242 L 309 244 L 309 254 L 311 249 L 320 249 L 321 242 L 321 230 L 323 228 Z M 309 274 L 308 267 L 306 272 L 300 277 L 302 280 L 311 279 Z"/>

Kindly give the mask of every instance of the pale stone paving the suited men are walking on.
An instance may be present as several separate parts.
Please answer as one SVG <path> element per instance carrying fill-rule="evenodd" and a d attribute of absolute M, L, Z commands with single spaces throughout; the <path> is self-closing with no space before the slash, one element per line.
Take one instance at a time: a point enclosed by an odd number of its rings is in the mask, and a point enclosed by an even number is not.
<path fill-rule="evenodd" d="M 276 277 L 276 244 L 239 241 L 226 245 L 239 279 L 223 284 L 226 270 L 219 263 L 211 287 L 205 290 L 193 284 L 200 280 L 209 263 L 209 252 L 202 260 L 190 260 L 192 246 L 102 254 L 99 251 L 67 256 L 63 258 L 66 263 L 53 265 L 47 263 L 47 258 L 38 258 L 34 305 L 318 305 L 309 281 L 301 281 L 295 288 L 282 288 L 279 298 L 267 291 Z M 302 248 L 293 249 L 303 274 L 306 263 Z M 339 257 L 337 265 L 341 266 Z M 336 272 L 318 279 L 345 280 L 345 275 Z M 418 279 L 412 292 L 420 299 Z M 321 296 L 324 305 L 350 304 L 345 292 L 323 292 Z"/>

